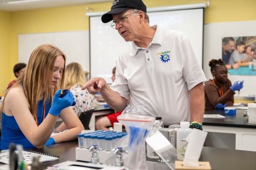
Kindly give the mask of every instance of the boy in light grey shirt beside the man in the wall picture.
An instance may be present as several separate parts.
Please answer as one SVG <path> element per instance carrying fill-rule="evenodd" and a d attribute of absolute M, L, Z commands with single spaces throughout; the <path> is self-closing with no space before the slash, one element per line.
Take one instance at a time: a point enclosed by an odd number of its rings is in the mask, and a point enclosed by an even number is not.
<path fill-rule="evenodd" d="M 233 65 L 235 63 L 239 64 L 239 66 L 247 66 L 251 62 L 244 62 L 242 53 L 244 52 L 245 44 L 242 41 L 236 43 L 236 50 L 230 56 L 227 64 Z"/>

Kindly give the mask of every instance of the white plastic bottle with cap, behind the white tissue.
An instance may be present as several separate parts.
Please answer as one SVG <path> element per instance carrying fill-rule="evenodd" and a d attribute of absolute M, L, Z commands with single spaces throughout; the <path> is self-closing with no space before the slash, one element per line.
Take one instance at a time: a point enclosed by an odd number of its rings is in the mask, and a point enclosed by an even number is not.
<path fill-rule="evenodd" d="M 180 128 L 177 129 L 177 159 L 183 160 L 183 157 L 186 152 L 186 147 L 188 142 L 186 141 L 186 137 L 191 132 L 191 128 L 189 128 L 189 122 L 180 122 Z M 180 156 L 181 155 L 181 156 Z"/>

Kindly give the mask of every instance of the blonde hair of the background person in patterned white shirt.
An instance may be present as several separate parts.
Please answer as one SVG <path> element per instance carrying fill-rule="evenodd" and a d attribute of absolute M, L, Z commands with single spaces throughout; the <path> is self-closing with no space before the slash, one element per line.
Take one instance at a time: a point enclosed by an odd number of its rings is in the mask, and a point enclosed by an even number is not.
<path fill-rule="evenodd" d="M 82 66 L 77 62 L 71 62 L 66 66 L 66 74 L 64 87 L 70 89 L 73 85 L 77 83 L 83 87 L 86 83 L 86 78 Z"/>

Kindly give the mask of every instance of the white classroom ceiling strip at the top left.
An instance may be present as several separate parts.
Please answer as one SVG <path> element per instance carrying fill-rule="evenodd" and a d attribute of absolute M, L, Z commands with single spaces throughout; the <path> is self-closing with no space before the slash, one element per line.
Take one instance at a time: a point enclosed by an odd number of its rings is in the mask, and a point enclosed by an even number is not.
<path fill-rule="evenodd" d="M 23 11 L 29 9 L 73 6 L 87 3 L 101 3 L 112 1 L 113 0 L 0 0 L 0 10 Z"/>

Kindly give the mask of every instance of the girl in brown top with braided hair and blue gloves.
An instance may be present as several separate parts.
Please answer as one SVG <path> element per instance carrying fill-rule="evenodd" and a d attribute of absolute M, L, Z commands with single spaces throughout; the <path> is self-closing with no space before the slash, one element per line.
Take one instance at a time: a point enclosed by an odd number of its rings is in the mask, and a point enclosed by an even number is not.
<path fill-rule="evenodd" d="M 212 59 L 209 66 L 213 79 L 209 79 L 204 87 L 205 110 L 233 106 L 235 91 L 243 88 L 244 81 L 237 81 L 232 85 L 227 78 L 227 67 L 221 59 Z"/>

